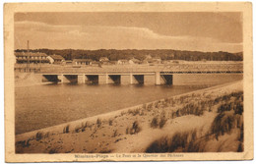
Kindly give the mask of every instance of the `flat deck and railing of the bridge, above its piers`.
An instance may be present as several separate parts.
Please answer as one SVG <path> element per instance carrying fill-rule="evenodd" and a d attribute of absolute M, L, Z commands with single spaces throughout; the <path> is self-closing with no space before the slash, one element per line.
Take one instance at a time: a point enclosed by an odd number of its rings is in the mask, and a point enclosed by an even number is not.
<path fill-rule="evenodd" d="M 16 66 L 15 69 L 26 67 Z M 38 74 L 127 74 L 127 73 L 156 73 L 161 74 L 221 74 L 243 73 L 242 64 L 173 64 L 173 65 L 114 65 L 114 66 L 73 66 L 41 65 L 31 66 Z"/>

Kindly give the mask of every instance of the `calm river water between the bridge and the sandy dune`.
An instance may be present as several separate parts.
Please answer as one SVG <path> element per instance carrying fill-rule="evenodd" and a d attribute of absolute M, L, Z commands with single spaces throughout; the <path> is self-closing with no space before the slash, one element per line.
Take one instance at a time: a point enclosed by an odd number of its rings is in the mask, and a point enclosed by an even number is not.
<path fill-rule="evenodd" d="M 16 134 L 241 79 L 241 75 L 197 75 L 176 77 L 176 82 L 185 85 L 172 86 L 42 84 L 16 87 Z"/>

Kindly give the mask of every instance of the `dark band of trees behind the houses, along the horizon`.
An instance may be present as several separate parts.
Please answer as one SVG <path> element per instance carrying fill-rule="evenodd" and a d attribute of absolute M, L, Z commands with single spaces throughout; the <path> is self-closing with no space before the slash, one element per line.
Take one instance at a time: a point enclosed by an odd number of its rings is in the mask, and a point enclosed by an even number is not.
<path fill-rule="evenodd" d="M 17 49 L 16 52 L 26 52 L 26 49 Z M 61 55 L 65 60 L 73 59 L 92 59 L 98 61 L 100 57 L 107 57 L 110 61 L 119 59 L 136 58 L 144 60 L 148 55 L 160 57 L 161 60 L 186 60 L 186 61 L 242 61 L 243 53 L 219 52 L 200 52 L 183 51 L 172 49 L 157 50 L 116 50 L 116 49 L 98 49 L 98 50 L 80 50 L 80 49 L 32 49 L 30 52 L 41 52 L 47 55 Z"/>

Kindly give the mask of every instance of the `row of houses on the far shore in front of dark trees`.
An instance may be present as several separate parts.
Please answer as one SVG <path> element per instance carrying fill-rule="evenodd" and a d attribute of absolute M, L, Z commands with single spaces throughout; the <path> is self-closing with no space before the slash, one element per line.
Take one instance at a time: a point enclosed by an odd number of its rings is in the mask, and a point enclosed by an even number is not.
<path fill-rule="evenodd" d="M 16 52 L 16 63 L 18 64 L 40 64 L 40 63 L 49 63 L 56 65 L 127 65 L 127 64 L 159 64 L 161 62 L 160 58 L 153 58 L 147 56 L 145 60 L 141 61 L 136 58 L 130 60 L 121 59 L 118 61 L 109 61 L 107 57 L 100 57 L 99 61 L 93 61 L 91 59 L 73 59 L 65 60 L 60 55 L 46 55 L 45 53 L 33 53 L 33 52 Z"/>

